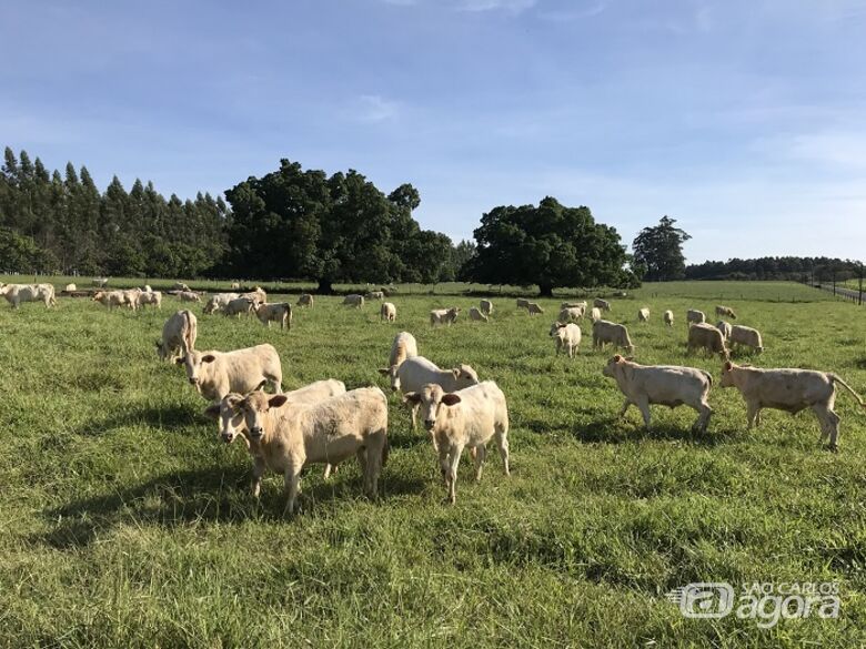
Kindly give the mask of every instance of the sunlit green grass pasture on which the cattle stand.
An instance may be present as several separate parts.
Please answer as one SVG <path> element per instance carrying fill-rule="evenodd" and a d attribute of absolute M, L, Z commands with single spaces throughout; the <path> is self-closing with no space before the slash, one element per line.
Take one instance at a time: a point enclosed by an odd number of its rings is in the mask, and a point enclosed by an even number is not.
<path fill-rule="evenodd" d="M 685 311 L 718 298 L 758 327 L 761 366 L 832 369 L 866 393 L 866 321 L 795 284 L 647 285 L 614 301 L 643 363 L 685 354 Z M 0 308 L 0 646 L 7 647 L 855 647 L 866 642 L 866 413 L 842 393 L 840 450 L 810 412 L 765 410 L 745 430 L 735 391 L 716 387 L 707 434 L 691 409 L 637 410 L 601 368 L 612 353 L 554 357 L 543 316 L 495 302 L 493 321 L 431 331 L 433 307 L 399 296 L 396 324 L 320 298 L 291 332 L 199 315 L 201 349 L 270 342 L 284 387 L 324 377 L 385 387 L 376 368 L 399 331 L 420 352 L 472 364 L 508 398 L 512 476 L 495 453 L 481 484 L 464 458 L 443 505 L 430 443 L 391 399 L 383 497 L 355 465 L 305 473 L 304 513 L 282 518 L 282 479 L 248 491 L 240 444 L 218 442 L 205 402 L 153 342 L 177 308 Z M 652 322 L 638 325 L 638 306 Z M 678 322 L 662 325 L 672 308 Z M 464 311 L 465 315 L 465 311 Z M 716 382 L 717 384 L 717 382 Z M 837 581 L 839 619 L 685 619 L 664 595 L 694 581 Z"/>

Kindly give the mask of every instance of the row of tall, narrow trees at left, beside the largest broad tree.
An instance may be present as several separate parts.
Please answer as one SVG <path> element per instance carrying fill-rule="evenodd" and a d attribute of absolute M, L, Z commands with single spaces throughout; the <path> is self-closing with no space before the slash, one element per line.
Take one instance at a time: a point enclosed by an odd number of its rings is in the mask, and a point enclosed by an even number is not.
<path fill-rule="evenodd" d="M 199 276 L 225 251 L 222 199 L 168 200 L 114 176 L 100 192 L 88 169 L 49 172 L 7 146 L 0 170 L 0 271 L 129 276 Z"/>

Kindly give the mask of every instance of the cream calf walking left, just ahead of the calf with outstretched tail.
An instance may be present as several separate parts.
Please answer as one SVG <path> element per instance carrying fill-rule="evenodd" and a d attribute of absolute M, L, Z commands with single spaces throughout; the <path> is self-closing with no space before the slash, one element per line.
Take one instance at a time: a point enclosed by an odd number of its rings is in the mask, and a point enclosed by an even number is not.
<path fill-rule="evenodd" d="M 708 372 L 695 367 L 671 365 L 640 365 L 618 354 L 607 362 L 602 374 L 616 379 L 625 395 L 620 417 L 625 416 L 628 406 L 634 405 L 644 417 L 650 430 L 650 405 L 668 406 L 672 409 L 687 405 L 699 413 L 692 430 L 704 433 L 713 409 L 706 403 L 713 377 Z"/>

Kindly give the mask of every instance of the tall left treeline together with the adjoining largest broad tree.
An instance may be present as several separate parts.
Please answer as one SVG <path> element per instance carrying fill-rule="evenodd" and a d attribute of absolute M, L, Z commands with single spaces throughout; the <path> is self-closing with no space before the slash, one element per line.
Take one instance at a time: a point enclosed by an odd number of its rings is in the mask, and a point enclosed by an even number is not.
<path fill-rule="evenodd" d="M 350 170 L 281 161 L 222 197 L 168 200 L 151 182 L 100 192 L 85 166 L 49 172 L 7 148 L 0 169 L 0 272 L 334 282 L 456 278 L 475 244 L 453 245 L 412 217 L 417 191 L 385 195 Z"/>

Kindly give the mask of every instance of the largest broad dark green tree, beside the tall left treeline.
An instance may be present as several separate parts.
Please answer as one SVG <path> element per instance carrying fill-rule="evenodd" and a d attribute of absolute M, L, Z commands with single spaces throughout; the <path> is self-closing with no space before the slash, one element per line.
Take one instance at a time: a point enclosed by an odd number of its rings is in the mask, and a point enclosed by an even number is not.
<path fill-rule="evenodd" d="M 228 266 L 239 276 L 335 282 L 436 281 L 451 240 L 424 232 L 410 184 L 382 193 L 354 170 L 330 178 L 280 161 L 280 169 L 225 192 L 232 206 Z"/>

